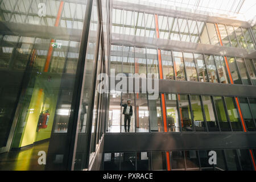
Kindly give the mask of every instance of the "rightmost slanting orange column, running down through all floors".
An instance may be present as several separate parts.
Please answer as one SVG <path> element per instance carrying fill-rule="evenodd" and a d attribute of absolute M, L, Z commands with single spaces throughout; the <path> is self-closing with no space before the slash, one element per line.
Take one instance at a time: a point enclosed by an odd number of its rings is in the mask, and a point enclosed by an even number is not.
<path fill-rule="evenodd" d="M 223 43 L 222 43 L 222 40 L 221 40 L 221 36 L 220 36 L 220 30 L 218 30 L 218 24 L 215 23 L 215 26 L 216 26 L 216 30 L 217 30 L 218 39 L 220 40 L 221 46 L 223 46 Z M 231 72 L 230 72 L 230 69 L 229 69 L 228 60 L 226 59 L 226 56 L 224 56 L 224 59 L 225 59 L 226 68 L 228 69 L 229 78 L 230 78 L 230 83 L 231 83 L 231 84 L 234 84 L 233 79 L 232 79 L 232 76 L 231 76 Z M 243 120 L 243 116 L 242 116 L 240 104 L 239 104 L 239 102 L 238 102 L 238 98 L 235 97 L 235 100 L 236 100 L 237 107 L 238 107 L 238 112 L 239 112 L 239 115 L 240 115 L 240 118 L 241 118 L 241 121 L 242 121 L 243 131 L 247 132 L 247 131 L 246 131 L 246 127 L 245 127 L 245 121 Z M 256 171 L 255 159 L 253 158 L 253 152 L 252 152 L 251 150 L 249 150 L 249 151 L 250 151 L 250 154 L 251 154 L 251 160 L 253 161 L 254 170 Z"/>

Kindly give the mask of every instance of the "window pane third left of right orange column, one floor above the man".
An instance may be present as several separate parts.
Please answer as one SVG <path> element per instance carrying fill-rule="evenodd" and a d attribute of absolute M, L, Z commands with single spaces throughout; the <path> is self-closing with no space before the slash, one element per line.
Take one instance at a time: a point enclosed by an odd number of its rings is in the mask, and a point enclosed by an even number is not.
<path fill-rule="evenodd" d="M 199 53 L 194 53 L 195 63 L 198 71 L 199 81 L 208 82 L 207 71 L 204 63 L 204 56 Z"/>

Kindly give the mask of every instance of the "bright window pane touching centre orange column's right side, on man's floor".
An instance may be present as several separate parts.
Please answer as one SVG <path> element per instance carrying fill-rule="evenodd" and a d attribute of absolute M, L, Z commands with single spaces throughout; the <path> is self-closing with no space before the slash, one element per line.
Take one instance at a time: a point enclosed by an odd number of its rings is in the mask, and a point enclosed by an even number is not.
<path fill-rule="evenodd" d="M 176 94 L 166 94 L 166 114 L 168 131 L 179 132 L 180 124 Z"/>

